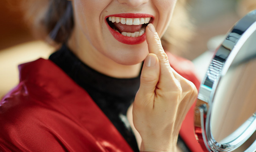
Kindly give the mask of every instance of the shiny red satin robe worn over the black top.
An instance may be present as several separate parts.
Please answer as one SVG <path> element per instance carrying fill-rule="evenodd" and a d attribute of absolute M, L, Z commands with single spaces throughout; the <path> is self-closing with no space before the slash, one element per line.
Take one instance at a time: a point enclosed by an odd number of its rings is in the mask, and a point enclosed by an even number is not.
<path fill-rule="evenodd" d="M 199 86 L 190 61 L 168 57 Z M 132 152 L 88 93 L 53 62 L 39 59 L 19 65 L 19 71 L 19 84 L 0 101 L 0 152 Z M 192 152 L 201 152 L 193 107 L 180 136 Z"/>

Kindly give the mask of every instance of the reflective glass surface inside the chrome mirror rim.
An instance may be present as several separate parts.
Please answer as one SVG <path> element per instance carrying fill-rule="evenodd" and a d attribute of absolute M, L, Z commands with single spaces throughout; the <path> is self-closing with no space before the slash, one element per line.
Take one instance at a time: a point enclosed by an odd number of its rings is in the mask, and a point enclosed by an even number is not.
<path fill-rule="evenodd" d="M 231 33 L 223 47 L 234 47 L 239 37 Z M 220 76 L 210 116 L 212 137 L 220 144 L 234 141 L 256 119 L 256 31 L 224 73 L 226 75 Z"/>

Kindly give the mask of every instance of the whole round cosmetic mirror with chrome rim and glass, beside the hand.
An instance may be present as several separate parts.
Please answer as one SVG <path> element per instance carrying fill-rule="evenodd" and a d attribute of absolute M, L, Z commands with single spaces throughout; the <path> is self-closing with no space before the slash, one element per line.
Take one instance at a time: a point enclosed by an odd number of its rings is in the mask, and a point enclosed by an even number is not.
<path fill-rule="evenodd" d="M 216 50 L 198 93 L 195 135 L 205 151 L 256 151 L 256 10 Z"/>

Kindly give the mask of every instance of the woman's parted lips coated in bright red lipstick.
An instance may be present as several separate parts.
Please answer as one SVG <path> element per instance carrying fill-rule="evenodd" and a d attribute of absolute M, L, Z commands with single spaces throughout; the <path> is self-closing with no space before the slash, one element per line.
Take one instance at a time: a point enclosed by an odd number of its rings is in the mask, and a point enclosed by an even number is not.
<path fill-rule="evenodd" d="M 107 23 L 107 18 L 110 16 L 115 16 L 115 17 L 122 17 L 122 18 L 146 18 L 146 17 L 151 17 L 150 23 L 152 23 L 152 19 L 154 19 L 154 16 L 150 14 L 133 14 L 133 13 L 125 13 L 125 14 L 113 14 L 105 17 L 105 22 L 107 24 L 107 28 L 110 31 L 110 33 L 113 35 L 114 38 L 116 38 L 117 41 L 124 43 L 124 44 L 139 44 L 143 43 L 146 40 L 146 33 L 139 37 L 128 37 L 124 36 L 121 33 L 116 32 L 113 30 L 109 24 Z"/>

